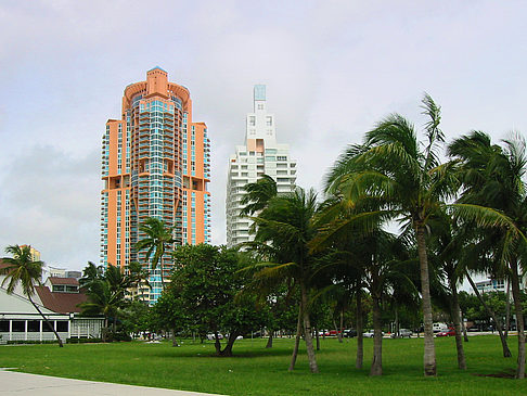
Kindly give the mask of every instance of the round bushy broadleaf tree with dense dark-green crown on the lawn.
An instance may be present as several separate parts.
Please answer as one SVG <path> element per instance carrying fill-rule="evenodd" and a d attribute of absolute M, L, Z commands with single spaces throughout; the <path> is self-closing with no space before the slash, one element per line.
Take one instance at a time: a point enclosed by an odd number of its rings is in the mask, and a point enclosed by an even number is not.
<path fill-rule="evenodd" d="M 166 293 L 172 295 L 171 309 L 180 316 L 179 329 L 216 334 L 218 356 L 232 356 L 237 336 L 265 323 L 253 294 L 242 293 L 247 280 L 234 250 L 207 244 L 179 246 L 173 252 L 175 270 Z M 221 348 L 218 334 L 228 333 Z"/>

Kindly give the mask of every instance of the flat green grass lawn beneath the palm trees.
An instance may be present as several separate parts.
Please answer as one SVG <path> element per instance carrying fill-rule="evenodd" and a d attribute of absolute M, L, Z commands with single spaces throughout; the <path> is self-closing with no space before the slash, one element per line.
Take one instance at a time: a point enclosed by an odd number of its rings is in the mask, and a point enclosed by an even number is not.
<path fill-rule="evenodd" d="M 368 375 L 372 340 L 364 340 L 364 368 L 355 368 L 356 338 L 322 341 L 317 354 L 320 374 L 310 374 L 305 352 L 287 372 L 292 340 L 243 340 L 232 358 L 213 356 L 214 345 L 185 342 L 0 346 L 0 367 L 82 380 L 147 385 L 223 395 L 527 395 L 527 381 L 485 376 L 512 373 L 515 357 L 501 357 L 497 336 L 465 343 L 468 370 L 457 369 L 452 338 L 436 338 L 438 375 L 422 374 L 423 338 L 384 340 L 382 378 Z M 511 349 L 516 338 L 510 338 Z"/>

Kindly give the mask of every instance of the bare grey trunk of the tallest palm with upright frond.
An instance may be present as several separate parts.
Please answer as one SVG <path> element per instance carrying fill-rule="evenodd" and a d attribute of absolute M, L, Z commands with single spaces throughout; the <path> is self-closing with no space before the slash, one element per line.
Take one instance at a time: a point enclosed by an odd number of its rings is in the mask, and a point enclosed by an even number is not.
<path fill-rule="evenodd" d="M 434 345 L 434 330 L 432 328 L 432 299 L 428 276 L 428 257 L 426 256 L 425 228 L 423 223 L 416 227 L 417 255 L 421 274 L 421 294 L 423 297 L 423 323 L 424 323 L 424 374 L 436 375 L 436 348 Z"/>

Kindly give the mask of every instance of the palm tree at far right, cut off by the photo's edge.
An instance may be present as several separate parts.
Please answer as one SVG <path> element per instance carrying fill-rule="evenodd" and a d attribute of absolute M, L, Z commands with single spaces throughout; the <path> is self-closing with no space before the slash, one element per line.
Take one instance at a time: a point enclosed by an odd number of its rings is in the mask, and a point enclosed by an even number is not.
<path fill-rule="evenodd" d="M 520 266 L 527 253 L 527 171 L 526 143 L 519 136 L 491 144 L 490 137 L 480 131 L 457 139 L 449 154 L 460 162 L 463 194 L 459 200 L 462 214 L 474 220 L 496 216 L 505 227 L 480 235 L 486 243 L 496 238 L 494 246 L 486 254 L 503 264 L 510 277 L 518 330 L 516 378 L 525 378 L 525 333 L 520 302 Z"/>

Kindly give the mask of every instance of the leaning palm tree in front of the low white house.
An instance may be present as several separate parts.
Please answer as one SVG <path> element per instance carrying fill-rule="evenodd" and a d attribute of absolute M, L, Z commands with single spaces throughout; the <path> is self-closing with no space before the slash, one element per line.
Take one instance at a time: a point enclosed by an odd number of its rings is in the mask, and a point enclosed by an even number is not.
<path fill-rule="evenodd" d="M 8 266 L 0 269 L 0 272 L 5 274 L 2 286 L 8 283 L 7 292 L 8 294 L 12 294 L 16 289 L 16 285 L 20 283 L 24 295 L 29 299 L 35 309 L 37 309 L 48 327 L 53 331 L 56 341 L 59 342 L 59 346 L 63 347 L 64 345 L 59 333 L 42 314 L 40 307 L 33 301 L 33 296 L 35 295 L 35 283 L 41 285 L 40 278 L 42 276 L 43 263 L 33 259 L 30 246 L 28 245 L 11 245 L 5 247 L 5 253 L 13 257 L 3 258 L 3 261 L 7 263 Z"/>

